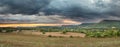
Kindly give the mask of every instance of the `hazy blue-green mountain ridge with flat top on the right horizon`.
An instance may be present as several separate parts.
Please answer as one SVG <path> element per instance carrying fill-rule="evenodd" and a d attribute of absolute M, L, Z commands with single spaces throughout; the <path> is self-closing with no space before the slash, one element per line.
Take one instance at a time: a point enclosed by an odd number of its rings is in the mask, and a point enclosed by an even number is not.
<path fill-rule="evenodd" d="M 81 27 L 93 27 L 93 28 L 120 28 L 120 20 L 102 20 L 99 23 L 83 23 Z"/>

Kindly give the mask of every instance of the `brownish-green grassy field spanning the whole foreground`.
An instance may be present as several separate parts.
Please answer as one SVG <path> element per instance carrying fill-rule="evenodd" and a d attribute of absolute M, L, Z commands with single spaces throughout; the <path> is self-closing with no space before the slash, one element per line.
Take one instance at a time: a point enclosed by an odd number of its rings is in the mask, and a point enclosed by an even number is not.
<path fill-rule="evenodd" d="M 59 38 L 0 33 L 0 47 L 120 47 L 120 37 Z"/>

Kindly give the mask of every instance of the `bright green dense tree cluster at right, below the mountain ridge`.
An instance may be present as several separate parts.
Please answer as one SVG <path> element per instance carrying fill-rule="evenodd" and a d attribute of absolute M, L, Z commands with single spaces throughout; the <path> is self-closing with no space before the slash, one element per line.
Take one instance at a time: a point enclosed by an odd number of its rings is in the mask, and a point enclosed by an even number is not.
<path fill-rule="evenodd" d="M 91 29 L 83 30 L 87 37 L 119 37 L 120 29 Z"/>

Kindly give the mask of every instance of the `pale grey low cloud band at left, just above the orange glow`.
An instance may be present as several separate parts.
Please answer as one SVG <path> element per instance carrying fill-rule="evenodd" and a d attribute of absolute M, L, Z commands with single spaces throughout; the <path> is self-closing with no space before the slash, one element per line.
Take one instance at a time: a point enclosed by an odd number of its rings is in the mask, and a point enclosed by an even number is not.
<path fill-rule="evenodd" d="M 59 15 L 38 16 L 23 14 L 0 15 L 1 23 L 63 23 L 63 17 Z"/>

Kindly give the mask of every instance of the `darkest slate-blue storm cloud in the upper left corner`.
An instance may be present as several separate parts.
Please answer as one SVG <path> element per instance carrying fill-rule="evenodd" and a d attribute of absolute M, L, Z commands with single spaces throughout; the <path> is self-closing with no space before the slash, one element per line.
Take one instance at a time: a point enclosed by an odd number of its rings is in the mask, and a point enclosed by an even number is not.
<path fill-rule="evenodd" d="M 37 14 L 49 3 L 50 0 L 0 0 L 0 7 L 7 7 L 7 10 L 0 13 Z"/>

